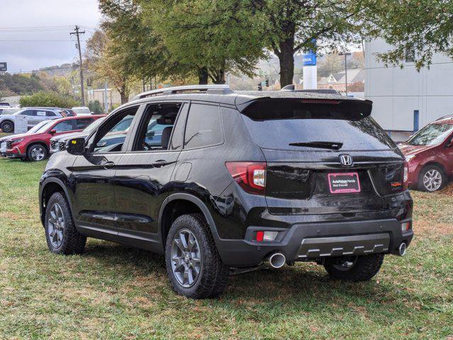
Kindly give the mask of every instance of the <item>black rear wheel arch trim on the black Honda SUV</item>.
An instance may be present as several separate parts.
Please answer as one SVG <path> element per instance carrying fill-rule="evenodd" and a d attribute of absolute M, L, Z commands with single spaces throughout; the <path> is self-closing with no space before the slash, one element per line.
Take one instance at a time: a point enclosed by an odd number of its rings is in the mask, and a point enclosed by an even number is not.
<path fill-rule="evenodd" d="M 211 216 L 211 212 L 209 212 L 208 207 L 206 207 L 203 201 L 189 193 L 174 193 L 164 201 L 164 204 L 160 208 L 159 222 L 163 247 L 165 247 L 167 242 L 167 235 L 170 227 L 172 227 L 172 222 L 181 215 L 193 213 L 199 213 L 205 218 L 214 241 L 217 244 L 219 236 L 216 224 Z"/>

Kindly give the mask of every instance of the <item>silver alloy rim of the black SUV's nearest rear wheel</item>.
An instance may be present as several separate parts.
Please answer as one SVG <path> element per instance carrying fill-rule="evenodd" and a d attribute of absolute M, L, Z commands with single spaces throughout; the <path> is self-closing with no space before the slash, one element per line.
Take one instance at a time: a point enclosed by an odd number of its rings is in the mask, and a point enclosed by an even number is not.
<path fill-rule="evenodd" d="M 195 235 L 181 229 L 172 242 L 172 270 L 178 283 L 189 288 L 196 283 L 201 270 L 200 246 Z"/>

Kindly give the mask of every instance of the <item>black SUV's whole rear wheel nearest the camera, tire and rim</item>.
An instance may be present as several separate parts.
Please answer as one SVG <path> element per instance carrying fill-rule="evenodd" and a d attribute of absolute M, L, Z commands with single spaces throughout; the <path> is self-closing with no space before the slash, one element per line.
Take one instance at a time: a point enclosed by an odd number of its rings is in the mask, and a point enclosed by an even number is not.
<path fill-rule="evenodd" d="M 215 297 L 228 283 L 228 268 L 199 214 L 182 215 L 173 222 L 165 247 L 165 263 L 173 289 L 186 297 Z"/>

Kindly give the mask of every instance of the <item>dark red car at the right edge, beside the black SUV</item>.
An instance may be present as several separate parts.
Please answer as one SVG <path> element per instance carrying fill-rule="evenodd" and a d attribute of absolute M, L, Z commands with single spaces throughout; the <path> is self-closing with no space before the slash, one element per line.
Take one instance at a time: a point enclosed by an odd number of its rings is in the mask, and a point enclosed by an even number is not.
<path fill-rule="evenodd" d="M 409 165 L 409 186 L 440 190 L 453 176 L 453 116 L 425 126 L 398 145 Z"/>

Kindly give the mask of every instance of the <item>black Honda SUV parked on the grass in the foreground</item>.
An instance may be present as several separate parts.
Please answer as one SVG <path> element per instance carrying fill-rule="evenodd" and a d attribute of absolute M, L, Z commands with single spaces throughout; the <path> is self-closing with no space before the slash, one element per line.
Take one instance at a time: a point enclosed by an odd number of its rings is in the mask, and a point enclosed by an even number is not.
<path fill-rule="evenodd" d="M 371 101 L 316 93 L 140 94 L 50 158 L 47 245 L 79 254 L 95 237 L 164 254 L 174 290 L 196 298 L 264 261 L 369 280 L 413 237 L 404 159 L 370 113 Z M 123 120 L 127 133 L 106 146 Z"/>

